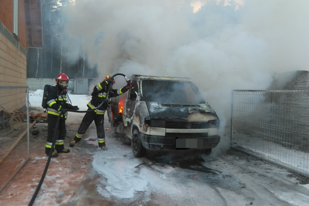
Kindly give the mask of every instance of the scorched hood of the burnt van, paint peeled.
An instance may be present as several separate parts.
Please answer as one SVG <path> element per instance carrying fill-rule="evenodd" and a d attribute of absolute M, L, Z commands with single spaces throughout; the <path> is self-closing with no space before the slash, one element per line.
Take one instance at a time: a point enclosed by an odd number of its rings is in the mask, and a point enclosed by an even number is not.
<path fill-rule="evenodd" d="M 204 104 L 166 104 L 158 102 L 146 101 L 148 107 L 149 115 L 151 119 L 184 119 L 188 120 L 192 116 L 197 116 L 193 114 L 201 114 L 199 119 L 193 121 L 199 121 L 205 119 L 207 116 L 207 121 L 218 119 L 217 114 L 214 109 L 210 107 L 208 103 Z M 203 117 L 204 116 L 204 117 Z"/>

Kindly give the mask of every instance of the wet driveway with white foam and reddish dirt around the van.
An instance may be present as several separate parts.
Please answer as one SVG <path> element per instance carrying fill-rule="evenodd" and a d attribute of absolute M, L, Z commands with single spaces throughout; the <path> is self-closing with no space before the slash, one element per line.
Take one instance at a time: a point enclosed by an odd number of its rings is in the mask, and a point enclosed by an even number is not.
<path fill-rule="evenodd" d="M 68 146 L 82 114 L 67 123 Z M 105 127 L 108 128 L 108 122 Z M 46 125 L 31 135 L 30 161 L 0 194 L 0 205 L 28 205 L 43 174 Z M 182 156 L 150 153 L 134 158 L 129 144 L 106 130 L 110 149 L 100 150 L 95 128 L 71 152 L 50 162 L 34 206 L 84 205 L 306 205 L 308 178 L 234 150 L 185 161 Z M 175 153 L 176 154 L 176 153 Z M 132 193 L 132 183 L 144 184 Z M 116 186 L 120 185 L 119 188 Z M 112 189 L 110 189 L 112 187 Z M 128 197 L 128 195 L 131 195 Z"/>

